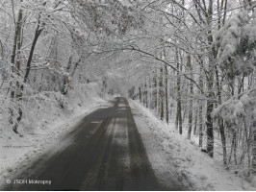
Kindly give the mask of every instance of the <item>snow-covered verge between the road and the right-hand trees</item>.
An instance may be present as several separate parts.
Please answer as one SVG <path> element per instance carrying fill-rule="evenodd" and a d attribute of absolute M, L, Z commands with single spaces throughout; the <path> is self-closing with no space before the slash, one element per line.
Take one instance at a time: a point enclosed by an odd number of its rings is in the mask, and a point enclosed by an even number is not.
<path fill-rule="evenodd" d="M 176 132 L 173 124 L 162 122 L 137 101 L 129 100 L 129 104 L 152 167 L 163 183 L 169 187 L 180 183 L 185 190 L 256 190 L 255 183 L 226 171 Z"/>

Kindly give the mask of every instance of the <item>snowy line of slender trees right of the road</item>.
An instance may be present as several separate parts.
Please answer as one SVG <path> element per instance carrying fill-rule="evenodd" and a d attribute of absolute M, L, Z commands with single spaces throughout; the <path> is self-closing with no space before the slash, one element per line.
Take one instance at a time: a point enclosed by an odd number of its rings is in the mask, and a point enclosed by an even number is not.
<path fill-rule="evenodd" d="M 147 42 L 129 46 L 141 60 L 155 63 L 129 95 L 154 109 L 161 120 L 171 121 L 188 139 L 198 138 L 199 147 L 205 146 L 209 156 L 214 157 L 221 143 L 223 165 L 250 176 L 256 155 L 256 5 L 231 3 L 154 1 L 148 5 L 155 20 L 147 21 Z"/>

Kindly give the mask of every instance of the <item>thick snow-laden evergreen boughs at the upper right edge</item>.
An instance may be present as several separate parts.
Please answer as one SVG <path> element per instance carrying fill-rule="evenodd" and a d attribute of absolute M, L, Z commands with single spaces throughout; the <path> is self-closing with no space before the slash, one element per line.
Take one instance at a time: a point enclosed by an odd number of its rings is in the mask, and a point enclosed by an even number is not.
<path fill-rule="evenodd" d="M 256 14 L 248 11 L 233 16 L 218 31 L 214 45 L 219 66 L 228 78 L 249 75 L 256 65 Z"/>

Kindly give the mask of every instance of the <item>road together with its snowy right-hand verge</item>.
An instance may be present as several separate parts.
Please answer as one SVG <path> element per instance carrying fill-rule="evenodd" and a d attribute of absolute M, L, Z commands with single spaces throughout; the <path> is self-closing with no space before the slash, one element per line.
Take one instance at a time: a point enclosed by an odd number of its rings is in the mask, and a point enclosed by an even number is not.
<path fill-rule="evenodd" d="M 76 119 L 80 120 L 69 123 L 71 129 L 59 132 L 59 136 L 56 132 L 58 139 L 45 150 L 40 149 L 37 158 L 26 156 L 16 168 L 8 168 L 10 173 L 1 176 L 5 183 L 1 188 L 254 189 L 245 180 L 224 172 L 215 159 L 201 153 L 171 124 L 166 125 L 136 101 L 129 100 L 128 104 L 126 99 L 116 98 L 112 103 L 94 106 L 93 112 Z M 53 139 L 45 139 L 44 143 L 49 140 Z"/>

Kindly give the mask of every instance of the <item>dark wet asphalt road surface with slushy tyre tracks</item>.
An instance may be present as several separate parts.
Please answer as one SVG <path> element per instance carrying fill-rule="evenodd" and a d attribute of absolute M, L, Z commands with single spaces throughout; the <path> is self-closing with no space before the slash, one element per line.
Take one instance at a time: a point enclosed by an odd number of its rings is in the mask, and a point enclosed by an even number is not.
<path fill-rule="evenodd" d="M 42 156 L 4 190 L 179 190 L 158 182 L 124 98 L 90 113 L 67 137 L 68 146 Z"/>

